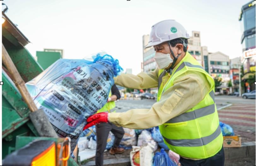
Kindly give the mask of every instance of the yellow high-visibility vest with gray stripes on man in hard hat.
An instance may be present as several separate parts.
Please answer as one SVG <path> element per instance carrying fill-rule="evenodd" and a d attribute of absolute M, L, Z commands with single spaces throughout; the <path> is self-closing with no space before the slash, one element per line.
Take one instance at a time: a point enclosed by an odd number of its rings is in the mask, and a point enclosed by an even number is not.
<path fill-rule="evenodd" d="M 214 101 L 214 80 L 188 52 L 178 63 L 165 85 L 162 77 L 165 71 L 159 70 L 158 101 L 163 92 L 173 86 L 174 80 L 186 71 L 201 72 L 211 83 L 205 98 L 192 109 L 178 115 L 159 126 L 164 143 L 174 152 L 187 158 L 209 158 L 220 151 L 223 136 Z M 189 100 L 189 99 L 188 99 Z"/>

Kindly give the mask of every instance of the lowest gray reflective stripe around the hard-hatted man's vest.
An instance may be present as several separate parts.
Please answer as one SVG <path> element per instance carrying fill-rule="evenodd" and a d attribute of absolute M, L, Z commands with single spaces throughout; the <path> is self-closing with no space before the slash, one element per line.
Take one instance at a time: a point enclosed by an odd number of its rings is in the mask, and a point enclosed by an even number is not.
<path fill-rule="evenodd" d="M 207 145 L 208 143 L 212 142 L 215 138 L 217 138 L 221 133 L 220 126 L 210 135 L 206 137 L 201 137 L 197 139 L 180 139 L 180 140 L 172 140 L 167 139 L 163 136 L 166 142 L 168 142 L 172 146 L 179 146 L 179 147 L 199 147 Z"/>

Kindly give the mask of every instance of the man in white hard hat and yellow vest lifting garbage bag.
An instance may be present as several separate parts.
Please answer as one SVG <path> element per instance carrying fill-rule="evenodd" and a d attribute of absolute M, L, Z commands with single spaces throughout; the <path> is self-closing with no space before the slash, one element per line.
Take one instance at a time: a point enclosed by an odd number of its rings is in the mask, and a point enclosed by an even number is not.
<path fill-rule="evenodd" d="M 146 89 L 158 87 L 158 99 L 150 109 L 99 113 L 86 127 L 108 122 L 146 129 L 159 126 L 165 144 L 180 155 L 183 166 L 223 166 L 223 136 L 214 101 L 214 80 L 187 52 L 189 35 L 175 20 L 152 26 L 150 41 L 157 69 L 137 76 L 121 74 L 117 85 Z"/>

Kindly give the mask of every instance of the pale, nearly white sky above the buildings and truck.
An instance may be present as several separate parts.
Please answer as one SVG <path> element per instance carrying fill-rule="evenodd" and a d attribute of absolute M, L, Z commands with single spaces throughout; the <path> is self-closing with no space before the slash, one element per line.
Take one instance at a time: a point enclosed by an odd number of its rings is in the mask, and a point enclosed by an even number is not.
<path fill-rule="evenodd" d="M 63 49 L 82 59 L 105 51 L 121 67 L 141 71 L 142 36 L 153 24 L 175 19 L 188 34 L 200 31 L 201 46 L 230 59 L 242 55 L 241 7 L 249 0 L 4 0 L 5 13 L 31 42 L 32 56 L 44 48 Z M 2 8 L 5 6 L 2 5 Z"/>

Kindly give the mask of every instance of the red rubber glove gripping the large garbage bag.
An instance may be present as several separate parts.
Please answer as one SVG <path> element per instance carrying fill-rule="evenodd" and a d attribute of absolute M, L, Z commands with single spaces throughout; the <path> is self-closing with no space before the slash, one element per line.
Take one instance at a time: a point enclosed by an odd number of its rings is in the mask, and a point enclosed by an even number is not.
<path fill-rule="evenodd" d="M 94 114 L 90 116 L 86 121 L 87 121 L 87 124 L 85 125 L 83 131 L 101 122 L 107 123 L 109 121 L 108 113 L 100 112 L 100 113 Z"/>

